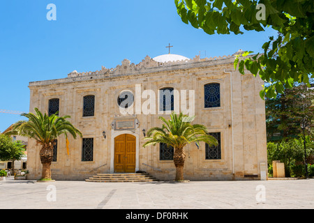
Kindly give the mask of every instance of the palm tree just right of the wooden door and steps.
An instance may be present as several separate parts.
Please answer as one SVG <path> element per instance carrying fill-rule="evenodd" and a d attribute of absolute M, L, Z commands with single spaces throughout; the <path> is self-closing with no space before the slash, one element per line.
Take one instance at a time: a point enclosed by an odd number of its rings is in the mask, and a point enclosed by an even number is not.
<path fill-rule="evenodd" d="M 204 141 L 209 145 L 217 145 L 218 141 L 208 134 L 207 128 L 204 125 L 194 124 L 194 117 L 186 116 L 182 113 L 172 113 L 170 120 L 166 121 L 165 118 L 159 117 L 163 121 L 161 128 L 151 128 L 147 132 L 146 140 L 143 146 L 156 145 L 158 143 L 167 144 L 174 148 L 173 161 L 176 167 L 176 181 L 184 180 L 184 162 L 186 154 L 184 153 L 184 146 L 195 142 L 199 146 L 199 141 Z"/>

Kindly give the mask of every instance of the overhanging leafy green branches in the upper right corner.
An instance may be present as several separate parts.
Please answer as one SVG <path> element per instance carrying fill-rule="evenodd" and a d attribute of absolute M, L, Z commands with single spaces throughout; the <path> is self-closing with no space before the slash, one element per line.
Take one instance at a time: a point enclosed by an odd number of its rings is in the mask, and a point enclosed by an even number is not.
<path fill-rule="evenodd" d="M 314 74 L 314 1 L 313 0 L 175 0 L 181 20 L 202 29 L 209 35 L 242 34 L 246 31 L 264 31 L 270 26 L 280 33 L 262 45 L 264 53 L 248 56 L 238 55 L 234 67 L 244 68 L 253 75 L 260 75 L 271 83 L 260 93 L 267 98 L 283 93 L 283 86 L 292 82 L 309 84 L 308 75 Z M 264 4 L 265 20 L 260 20 Z M 258 18 L 258 20 L 257 20 Z M 247 57 L 247 58 L 246 58 Z"/>

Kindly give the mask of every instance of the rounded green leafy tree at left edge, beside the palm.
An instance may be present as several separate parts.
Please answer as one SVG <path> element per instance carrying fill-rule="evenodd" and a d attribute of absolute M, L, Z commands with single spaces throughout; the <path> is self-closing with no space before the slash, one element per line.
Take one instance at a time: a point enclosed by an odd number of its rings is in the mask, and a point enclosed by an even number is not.
<path fill-rule="evenodd" d="M 10 137 L 0 134 L 0 160 L 21 160 L 25 151 L 23 147 L 21 141 L 13 141 Z"/>

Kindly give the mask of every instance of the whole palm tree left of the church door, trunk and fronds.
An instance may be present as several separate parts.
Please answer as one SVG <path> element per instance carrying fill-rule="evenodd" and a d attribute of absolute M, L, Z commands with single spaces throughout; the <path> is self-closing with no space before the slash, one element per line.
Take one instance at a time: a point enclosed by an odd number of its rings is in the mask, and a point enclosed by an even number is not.
<path fill-rule="evenodd" d="M 40 149 L 40 161 L 43 164 L 42 178 L 51 179 L 50 165 L 53 157 L 53 148 L 55 145 L 55 139 L 59 135 L 63 134 L 68 140 L 68 133 L 77 138 L 77 134 L 82 137 L 80 130 L 77 130 L 66 118 L 70 116 L 57 116 L 52 114 L 42 114 L 37 108 L 35 108 L 36 114 L 24 113 L 21 116 L 29 118 L 28 121 L 17 121 L 13 125 L 11 131 L 6 134 L 19 134 L 23 137 L 28 137 L 36 140 L 36 144 L 41 146 Z"/>

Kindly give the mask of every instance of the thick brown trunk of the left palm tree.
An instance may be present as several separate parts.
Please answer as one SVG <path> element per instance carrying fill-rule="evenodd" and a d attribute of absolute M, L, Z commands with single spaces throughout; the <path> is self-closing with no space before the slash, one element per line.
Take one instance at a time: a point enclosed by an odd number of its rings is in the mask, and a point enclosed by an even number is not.
<path fill-rule="evenodd" d="M 41 178 L 51 179 L 51 162 L 53 157 L 53 144 L 45 144 L 40 150 L 40 161 L 43 164 Z"/>

